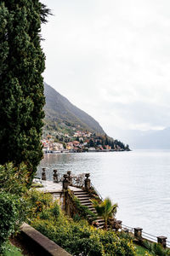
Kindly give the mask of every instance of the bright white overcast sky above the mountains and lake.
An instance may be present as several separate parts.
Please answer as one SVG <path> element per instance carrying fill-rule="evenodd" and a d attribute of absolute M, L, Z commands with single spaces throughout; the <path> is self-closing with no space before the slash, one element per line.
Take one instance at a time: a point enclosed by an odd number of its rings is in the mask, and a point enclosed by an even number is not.
<path fill-rule="evenodd" d="M 44 80 L 112 137 L 170 126 L 169 0 L 42 0 Z"/>

